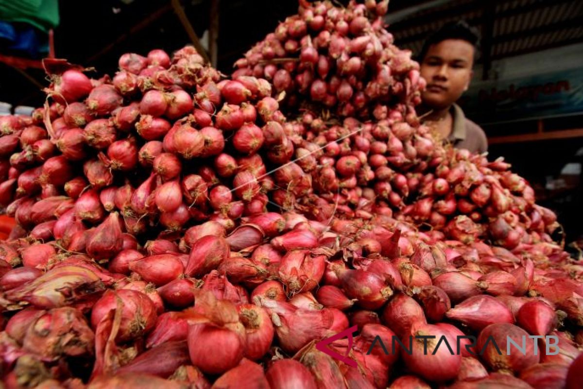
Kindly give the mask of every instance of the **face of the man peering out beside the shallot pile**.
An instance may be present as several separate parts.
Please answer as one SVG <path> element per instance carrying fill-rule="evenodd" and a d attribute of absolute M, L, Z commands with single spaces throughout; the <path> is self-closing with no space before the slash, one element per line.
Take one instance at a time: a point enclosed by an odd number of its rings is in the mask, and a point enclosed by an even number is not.
<path fill-rule="evenodd" d="M 473 46 L 464 40 L 431 45 L 421 64 L 421 76 L 427 81 L 423 103 L 437 110 L 455 103 L 472 79 L 473 56 Z"/>

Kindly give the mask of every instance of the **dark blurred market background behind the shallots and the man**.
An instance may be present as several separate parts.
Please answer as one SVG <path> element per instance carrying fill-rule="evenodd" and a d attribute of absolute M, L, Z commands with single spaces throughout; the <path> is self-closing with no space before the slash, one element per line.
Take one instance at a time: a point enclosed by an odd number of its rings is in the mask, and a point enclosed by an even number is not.
<path fill-rule="evenodd" d="M 337 1 L 338 2 L 338 1 Z M 342 3 L 342 1 L 339 1 Z M 220 71 L 296 13 L 297 0 L 0 0 L 0 114 L 44 102 L 47 56 L 113 74 L 124 52 L 194 44 Z M 388 30 L 414 53 L 441 24 L 482 33 L 459 103 L 583 247 L 583 2 L 391 0 Z"/>

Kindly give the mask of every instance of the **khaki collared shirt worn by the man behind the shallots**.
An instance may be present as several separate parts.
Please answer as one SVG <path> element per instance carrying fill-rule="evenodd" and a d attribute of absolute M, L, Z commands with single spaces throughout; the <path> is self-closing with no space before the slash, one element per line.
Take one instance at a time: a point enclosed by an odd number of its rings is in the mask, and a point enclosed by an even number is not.
<path fill-rule="evenodd" d="M 475 122 L 466 118 L 458 104 L 451 106 L 452 131 L 447 140 L 456 149 L 468 149 L 472 153 L 484 153 L 488 150 L 488 139 L 484 130 Z"/>

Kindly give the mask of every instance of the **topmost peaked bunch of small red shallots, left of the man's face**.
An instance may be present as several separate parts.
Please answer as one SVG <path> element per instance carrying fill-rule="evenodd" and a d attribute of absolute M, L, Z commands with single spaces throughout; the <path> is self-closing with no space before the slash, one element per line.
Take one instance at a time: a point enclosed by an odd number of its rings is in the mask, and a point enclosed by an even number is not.
<path fill-rule="evenodd" d="M 425 80 L 411 52 L 399 50 L 384 29 L 388 1 L 348 8 L 299 3 L 298 15 L 236 62 L 233 78 L 270 80 L 276 92 L 286 93 L 286 113 L 320 107 L 341 117 L 384 120 L 403 104 L 407 121 L 416 122 L 414 104 Z"/>

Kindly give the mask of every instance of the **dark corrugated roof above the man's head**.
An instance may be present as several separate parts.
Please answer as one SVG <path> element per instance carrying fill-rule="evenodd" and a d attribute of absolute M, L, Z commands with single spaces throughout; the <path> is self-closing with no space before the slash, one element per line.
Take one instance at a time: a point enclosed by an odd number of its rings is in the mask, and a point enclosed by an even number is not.
<path fill-rule="evenodd" d="M 389 31 L 397 45 L 418 52 L 425 38 L 442 24 L 464 19 L 487 30 L 492 23 L 491 44 L 481 58 L 498 59 L 581 41 L 583 2 L 578 0 L 454 0 L 412 13 L 392 23 Z M 487 7 L 493 7 L 491 20 Z M 486 43 L 488 40 L 483 40 Z"/>

